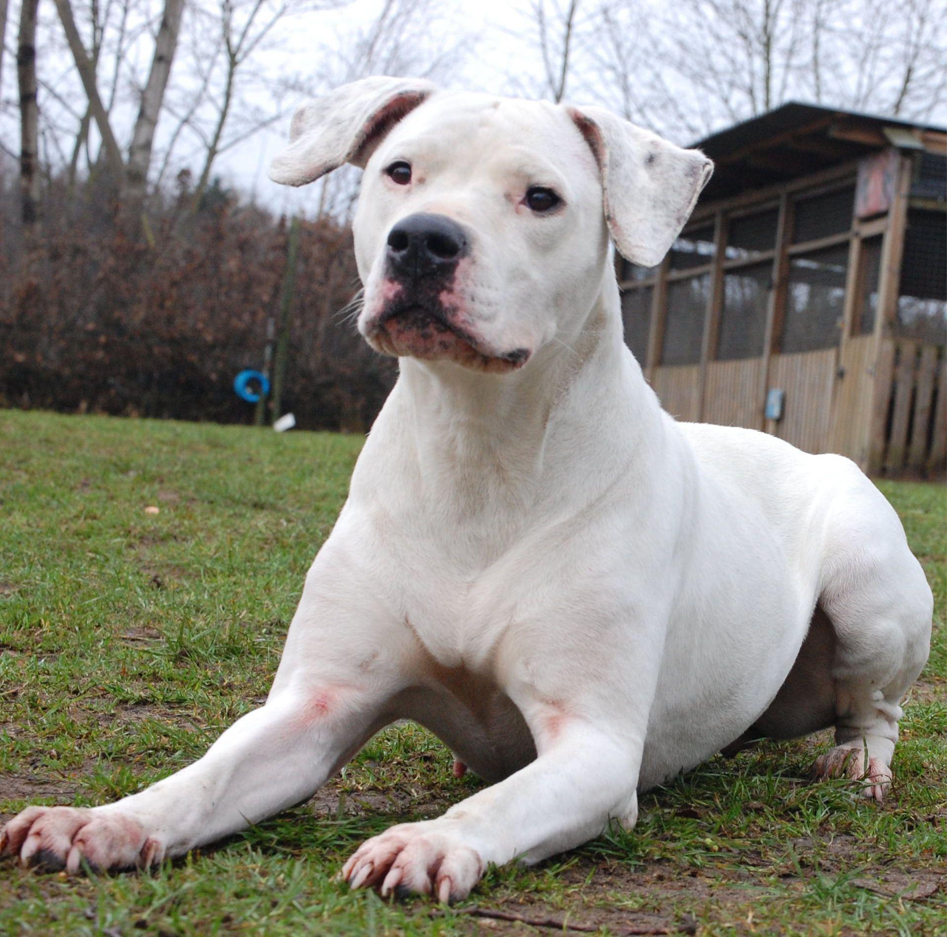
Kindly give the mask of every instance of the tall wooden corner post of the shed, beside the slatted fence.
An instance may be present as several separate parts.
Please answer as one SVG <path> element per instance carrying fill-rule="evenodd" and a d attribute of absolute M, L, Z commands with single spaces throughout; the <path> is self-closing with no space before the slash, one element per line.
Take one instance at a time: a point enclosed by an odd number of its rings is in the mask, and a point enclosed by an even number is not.
<path fill-rule="evenodd" d="M 898 315 L 898 293 L 901 285 L 901 259 L 904 251 L 904 229 L 907 226 L 907 200 L 911 190 L 911 159 L 901 157 L 898 169 L 898 184 L 894 201 L 888 210 L 887 226 L 882 242 L 881 273 L 878 279 L 878 314 L 875 317 L 874 387 L 872 389 L 871 422 L 867 426 L 868 461 L 863 466 L 871 474 L 884 466 L 884 431 L 887 423 L 888 405 L 891 401 L 891 369 L 887 358 L 893 358 L 894 350 L 887 353 L 885 345 L 892 344 L 891 322 Z"/>

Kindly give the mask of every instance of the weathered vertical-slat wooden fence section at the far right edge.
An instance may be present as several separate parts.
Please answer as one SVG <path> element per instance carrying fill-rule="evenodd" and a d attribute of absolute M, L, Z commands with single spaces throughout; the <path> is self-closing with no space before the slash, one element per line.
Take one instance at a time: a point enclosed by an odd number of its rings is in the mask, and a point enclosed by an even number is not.
<path fill-rule="evenodd" d="M 885 474 L 937 475 L 947 468 L 947 360 L 944 349 L 906 338 L 884 339 L 876 419 L 884 413 Z"/>

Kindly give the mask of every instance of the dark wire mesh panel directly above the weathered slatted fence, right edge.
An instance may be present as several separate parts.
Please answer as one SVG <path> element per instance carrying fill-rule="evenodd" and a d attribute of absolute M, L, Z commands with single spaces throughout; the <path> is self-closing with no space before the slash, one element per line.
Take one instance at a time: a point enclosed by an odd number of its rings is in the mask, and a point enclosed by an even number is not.
<path fill-rule="evenodd" d="M 898 314 L 892 332 L 947 340 L 947 213 L 910 209 L 904 232 Z"/>

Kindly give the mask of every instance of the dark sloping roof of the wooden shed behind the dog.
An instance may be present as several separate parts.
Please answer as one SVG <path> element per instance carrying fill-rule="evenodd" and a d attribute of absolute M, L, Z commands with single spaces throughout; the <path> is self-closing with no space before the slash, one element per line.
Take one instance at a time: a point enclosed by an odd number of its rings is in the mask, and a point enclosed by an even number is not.
<path fill-rule="evenodd" d="M 902 131 L 900 142 L 896 133 L 886 135 L 885 130 Z M 808 175 L 893 143 L 916 139 L 920 144 L 926 132 L 947 129 L 790 101 L 691 145 L 717 166 L 702 196 L 706 201 Z"/>

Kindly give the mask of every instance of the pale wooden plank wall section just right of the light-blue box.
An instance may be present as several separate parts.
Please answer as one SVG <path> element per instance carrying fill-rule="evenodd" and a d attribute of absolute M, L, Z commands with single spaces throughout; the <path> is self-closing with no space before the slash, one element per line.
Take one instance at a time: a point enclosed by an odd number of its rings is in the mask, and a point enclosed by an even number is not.
<path fill-rule="evenodd" d="M 770 363 L 770 387 L 782 387 L 786 403 L 782 420 L 767 428 L 806 452 L 826 451 L 837 357 L 837 349 L 827 348 L 774 354 Z"/>

